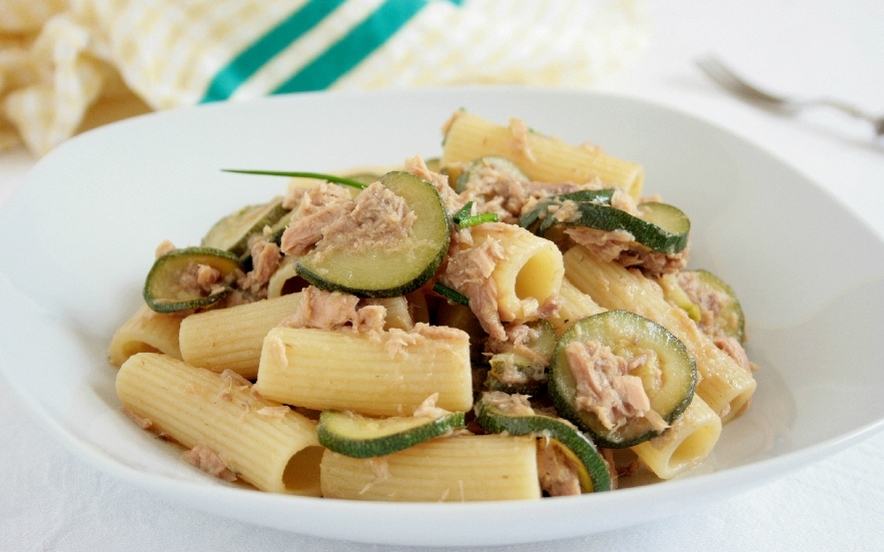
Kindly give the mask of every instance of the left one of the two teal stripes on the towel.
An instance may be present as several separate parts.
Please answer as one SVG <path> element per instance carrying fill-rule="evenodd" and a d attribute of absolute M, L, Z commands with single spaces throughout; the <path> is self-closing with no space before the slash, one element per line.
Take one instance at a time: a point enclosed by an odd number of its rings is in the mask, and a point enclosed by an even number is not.
<path fill-rule="evenodd" d="M 203 102 L 228 99 L 265 63 L 319 24 L 346 0 L 310 0 L 267 34 L 243 50 L 215 75 Z"/>

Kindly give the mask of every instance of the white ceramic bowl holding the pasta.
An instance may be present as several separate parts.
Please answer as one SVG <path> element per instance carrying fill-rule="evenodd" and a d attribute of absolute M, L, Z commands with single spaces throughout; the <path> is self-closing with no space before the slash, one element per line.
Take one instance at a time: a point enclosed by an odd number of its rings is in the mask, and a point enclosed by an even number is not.
<path fill-rule="evenodd" d="M 441 151 L 461 107 L 511 116 L 645 166 L 692 220 L 692 262 L 737 291 L 752 408 L 685 477 L 580 497 L 359 503 L 227 485 L 120 412 L 110 337 L 139 305 L 153 250 L 195 244 L 284 181 L 222 168 L 333 171 Z M 689 513 L 884 426 L 884 244 L 781 161 L 703 121 L 622 97 L 539 89 L 279 96 L 152 114 L 42 159 L 0 216 L 0 372 L 78 452 L 115 477 L 220 516 L 330 538 L 490 545 L 565 538 Z"/>

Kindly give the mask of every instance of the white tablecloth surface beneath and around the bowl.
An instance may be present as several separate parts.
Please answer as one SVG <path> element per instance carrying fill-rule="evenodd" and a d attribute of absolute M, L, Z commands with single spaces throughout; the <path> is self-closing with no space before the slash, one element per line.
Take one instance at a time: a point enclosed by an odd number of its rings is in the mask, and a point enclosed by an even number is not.
<path fill-rule="evenodd" d="M 597 89 L 681 109 L 769 149 L 884 237 L 884 139 L 837 113 L 785 118 L 750 107 L 692 64 L 714 52 L 773 88 L 839 96 L 884 113 L 884 2 L 656 0 L 649 10 L 649 50 Z M 33 163 L 23 149 L 0 154 L 0 206 Z M 2 379 L 0 443 L 3 551 L 404 549 L 303 537 L 160 500 L 70 454 Z M 884 432 L 699 515 L 474 550 L 884 550 L 882 472 Z"/>

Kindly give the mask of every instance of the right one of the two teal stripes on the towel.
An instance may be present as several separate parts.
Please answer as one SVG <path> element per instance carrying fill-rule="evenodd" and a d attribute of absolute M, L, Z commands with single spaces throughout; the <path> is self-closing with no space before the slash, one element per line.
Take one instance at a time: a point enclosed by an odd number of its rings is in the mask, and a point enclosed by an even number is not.
<path fill-rule="evenodd" d="M 427 0 L 387 0 L 319 57 L 282 83 L 274 94 L 328 88 L 414 17 Z M 459 0 L 453 2 L 459 4 Z"/>

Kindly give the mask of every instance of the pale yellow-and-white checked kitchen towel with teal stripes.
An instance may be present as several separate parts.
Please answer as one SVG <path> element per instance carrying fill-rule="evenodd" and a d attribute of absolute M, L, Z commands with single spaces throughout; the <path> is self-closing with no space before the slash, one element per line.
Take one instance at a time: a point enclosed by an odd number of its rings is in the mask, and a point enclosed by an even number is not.
<path fill-rule="evenodd" d="M 0 150 L 23 142 L 41 155 L 130 113 L 268 94 L 586 86 L 643 50 L 644 8 L 644 0 L 0 0 Z"/>

